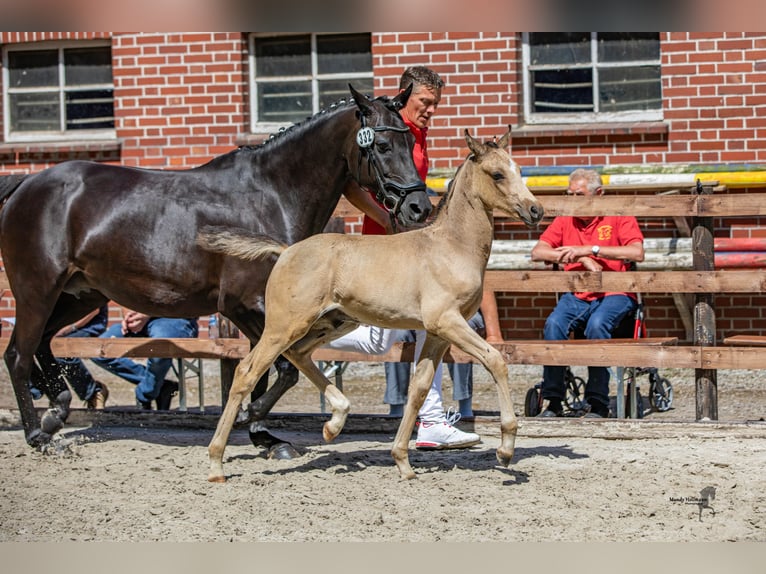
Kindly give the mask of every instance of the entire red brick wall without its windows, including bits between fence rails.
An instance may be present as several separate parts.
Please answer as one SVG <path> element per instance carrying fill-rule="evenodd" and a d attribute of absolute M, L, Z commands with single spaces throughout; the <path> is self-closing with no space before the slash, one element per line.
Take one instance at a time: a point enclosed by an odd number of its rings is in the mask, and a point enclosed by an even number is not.
<path fill-rule="evenodd" d="M 0 33 L 0 43 L 111 38 L 120 140 L 64 146 L 0 142 L 0 173 L 39 171 L 68 159 L 180 169 L 229 151 L 248 131 L 246 37 L 240 32 Z M 526 168 L 766 162 L 766 34 L 672 32 L 660 40 L 665 120 L 649 125 L 521 126 L 521 35 L 513 32 L 374 33 L 375 88 L 395 93 L 408 65 L 425 64 L 444 76 L 444 97 L 429 137 L 436 170 L 454 170 L 463 160 L 464 129 L 488 138 L 509 124 L 519 126 L 512 153 Z M 667 236 L 674 229 L 671 221 L 644 223 L 648 236 Z M 347 222 L 349 232 L 359 227 L 358 219 Z M 496 229 L 503 239 L 537 237 L 504 221 Z M 756 218 L 718 222 L 716 235 L 764 237 L 766 226 Z M 539 337 L 553 304 L 548 294 L 504 293 L 498 301 L 506 337 Z M 764 303 L 761 295 L 719 296 L 719 328 L 766 332 Z M 684 336 L 670 297 L 653 296 L 647 306 L 651 334 Z M 8 294 L 0 301 L 0 315 L 13 315 Z"/>

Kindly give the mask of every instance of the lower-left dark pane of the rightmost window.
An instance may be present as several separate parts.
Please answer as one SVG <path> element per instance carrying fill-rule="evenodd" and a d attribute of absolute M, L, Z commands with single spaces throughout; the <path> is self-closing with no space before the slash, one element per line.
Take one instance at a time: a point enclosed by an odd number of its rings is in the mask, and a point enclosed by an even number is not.
<path fill-rule="evenodd" d="M 592 112 L 591 70 L 532 72 L 532 108 L 543 113 Z"/>

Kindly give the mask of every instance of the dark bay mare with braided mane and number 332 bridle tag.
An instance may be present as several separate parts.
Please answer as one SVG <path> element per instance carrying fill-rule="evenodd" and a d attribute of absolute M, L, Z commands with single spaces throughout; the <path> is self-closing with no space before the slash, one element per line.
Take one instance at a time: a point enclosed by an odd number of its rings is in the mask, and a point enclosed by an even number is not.
<path fill-rule="evenodd" d="M 51 408 L 38 419 L 28 388 L 34 357 L 57 381 L 51 337 L 110 299 L 162 317 L 218 311 L 258 341 L 272 264 L 244 272 L 242 261 L 198 246 L 200 228 L 243 228 L 294 243 L 322 231 L 352 180 L 376 190 L 405 226 L 427 217 L 414 138 L 398 113 L 411 87 L 374 100 L 349 88 L 353 102 L 197 168 L 70 161 L 0 178 L 0 251 L 16 299 L 5 362 L 28 444 L 50 442 L 71 401 L 63 383 L 50 383 Z M 265 417 L 296 381 L 283 360 L 277 382 L 251 403 L 250 419 Z"/>

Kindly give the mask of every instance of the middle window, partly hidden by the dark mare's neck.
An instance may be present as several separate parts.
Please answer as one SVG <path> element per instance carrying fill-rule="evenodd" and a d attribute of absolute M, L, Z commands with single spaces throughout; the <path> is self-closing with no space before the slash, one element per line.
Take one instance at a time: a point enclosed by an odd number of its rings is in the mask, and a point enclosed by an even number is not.
<path fill-rule="evenodd" d="M 252 131 L 303 121 L 348 97 L 349 83 L 371 95 L 371 41 L 370 34 L 253 36 Z"/>

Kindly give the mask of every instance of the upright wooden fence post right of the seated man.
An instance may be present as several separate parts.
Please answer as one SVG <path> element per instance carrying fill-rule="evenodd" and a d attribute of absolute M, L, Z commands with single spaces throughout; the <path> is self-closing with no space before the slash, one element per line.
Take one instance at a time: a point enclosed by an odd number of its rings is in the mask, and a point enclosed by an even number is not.
<path fill-rule="evenodd" d="M 695 193 L 710 194 L 712 187 L 697 180 Z M 715 270 L 713 218 L 694 217 L 692 264 L 697 271 Z M 715 346 L 716 324 L 713 293 L 697 293 L 694 305 L 694 344 Z M 718 374 L 715 369 L 695 369 L 696 419 L 718 420 Z"/>

